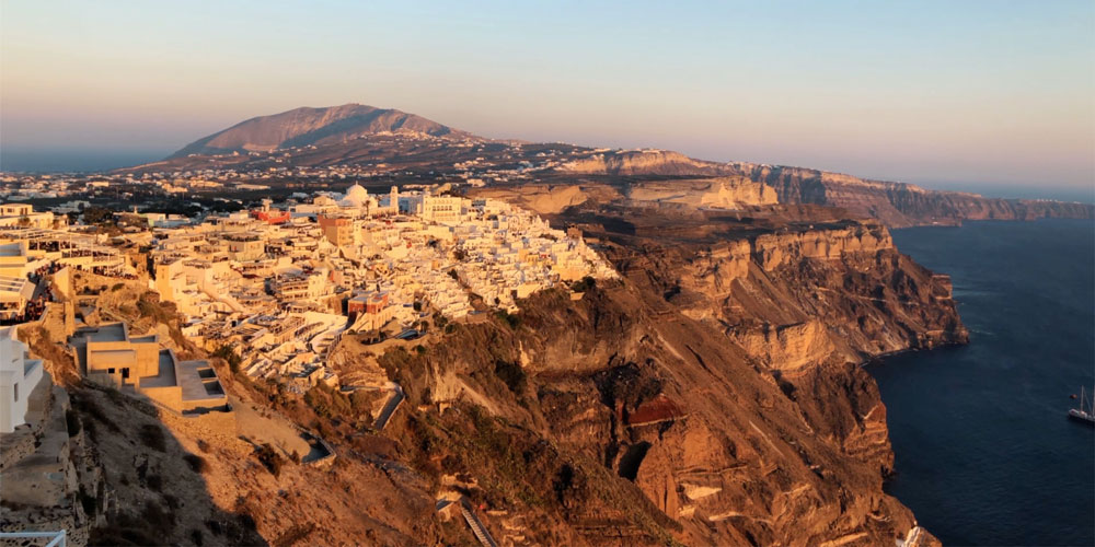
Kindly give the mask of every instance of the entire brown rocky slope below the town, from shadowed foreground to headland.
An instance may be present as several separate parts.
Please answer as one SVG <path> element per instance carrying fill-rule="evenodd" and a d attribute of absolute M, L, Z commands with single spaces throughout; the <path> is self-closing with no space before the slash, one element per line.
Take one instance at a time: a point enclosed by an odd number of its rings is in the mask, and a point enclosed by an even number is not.
<path fill-rule="evenodd" d="M 404 389 L 379 432 L 368 397 L 301 396 L 220 361 L 237 417 L 172 416 L 81 385 L 57 345 L 65 322 L 47 322 L 32 351 L 69 379 L 113 500 L 88 501 L 92 543 L 473 544 L 435 511 L 448 497 L 466 499 L 502 545 L 907 537 L 913 515 L 883 491 L 885 406 L 857 363 L 961 342 L 946 279 L 900 255 L 877 222 L 831 208 L 726 211 L 613 191 L 569 196 L 577 205 L 552 220 L 584 230 L 622 280 L 541 292 L 514 315 L 433 317 L 428 337 L 382 353 L 337 346 L 339 376 Z M 82 316 L 123 318 L 203 357 L 145 287 L 81 276 L 78 293 L 101 293 Z M 287 421 L 336 459 L 264 452 L 256 440 Z"/>

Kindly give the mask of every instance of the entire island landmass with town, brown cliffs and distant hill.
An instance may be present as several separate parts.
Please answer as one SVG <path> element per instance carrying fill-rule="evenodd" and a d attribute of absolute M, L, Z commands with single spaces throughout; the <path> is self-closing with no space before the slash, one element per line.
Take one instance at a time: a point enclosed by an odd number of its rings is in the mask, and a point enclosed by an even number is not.
<path fill-rule="evenodd" d="M 0 532 L 931 545 L 860 363 L 966 329 L 887 225 L 1091 216 L 408 116 L 0 175 Z"/>

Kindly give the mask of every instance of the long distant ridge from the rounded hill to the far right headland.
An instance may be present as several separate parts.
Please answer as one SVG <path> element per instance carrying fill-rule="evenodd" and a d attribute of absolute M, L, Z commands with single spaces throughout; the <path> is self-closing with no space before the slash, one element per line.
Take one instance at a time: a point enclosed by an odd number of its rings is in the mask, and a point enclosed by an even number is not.
<path fill-rule="evenodd" d="M 301 107 L 237 124 L 161 162 L 117 173 L 226 171 L 278 173 L 348 166 L 372 178 L 482 178 L 487 184 L 590 182 L 632 184 L 747 178 L 774 190 L 780 203 L 840 207 L 890 228 L 960 224 L 964 220 L 1095 218 L 1095 206 L 1004 199 L 932 190 L 808 167 L 715 162 L 658 149 L 595 149 L 565 143 L 493 140 L 396 109 L 346 104 Z M 416 181 L 417 182 L 417 181 Z"/>

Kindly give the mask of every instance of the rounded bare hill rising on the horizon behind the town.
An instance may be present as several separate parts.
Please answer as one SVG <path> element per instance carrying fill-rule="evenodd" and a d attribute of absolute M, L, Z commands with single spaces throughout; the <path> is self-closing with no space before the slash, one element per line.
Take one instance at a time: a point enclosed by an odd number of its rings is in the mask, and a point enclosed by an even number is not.
<path fill-rule="evenodd" d="M 251 118 L 194 141 L 168 159 L 185 158 L 191 154 L 268 152 L 281 148 L 336 144 L 387 132 L 482 140 L 466 131 L 414 114 L 392 108 L 345 104 L 325 108 L 301 107 Z"/>

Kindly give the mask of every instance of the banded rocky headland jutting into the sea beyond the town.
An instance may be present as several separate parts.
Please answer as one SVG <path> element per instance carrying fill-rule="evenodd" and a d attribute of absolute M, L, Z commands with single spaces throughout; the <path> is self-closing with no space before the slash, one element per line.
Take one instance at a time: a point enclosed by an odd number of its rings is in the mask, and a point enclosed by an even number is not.
<path fill-rule="evenodd" d="M 745 236 L 688 265 L 669 291 L 781 370 L 965 341 L 949 279 L 898 253 L 874 222 Z"/>

